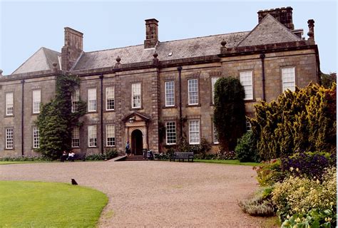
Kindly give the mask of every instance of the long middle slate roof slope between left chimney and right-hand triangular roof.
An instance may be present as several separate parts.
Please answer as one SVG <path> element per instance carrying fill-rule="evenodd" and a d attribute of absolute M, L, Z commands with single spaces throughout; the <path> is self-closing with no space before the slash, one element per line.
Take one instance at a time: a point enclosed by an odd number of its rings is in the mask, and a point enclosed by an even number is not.
<path fill-rule="evenodd" d="M 155 48 L 145 49 L 143 44 L 114 48 L 103 51 L 83 53 L 72 70 L 83 70 L 114 66 L 120 56 L 121 63 L 138 63 L 151 61 L 153 53 L 158 53 L 160 61 L 198 56 L 211 56 L 220 53 L 220 42 L 225 39 L 228 47 L 235 47 L 249 32 L 227 33 L 215 36 L 187 38 L 177 41 L 158 42 Z M 169 56 L 169 53 L 172 53 Z"/>

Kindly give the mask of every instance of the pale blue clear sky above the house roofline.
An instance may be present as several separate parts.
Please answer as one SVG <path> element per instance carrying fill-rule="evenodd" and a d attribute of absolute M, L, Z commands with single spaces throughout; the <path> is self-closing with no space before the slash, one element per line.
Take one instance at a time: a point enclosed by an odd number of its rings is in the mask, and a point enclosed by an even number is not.
<path fill-rule="evenodd" d="M 257 11 L 292 6 L 295 28 L 314 19 L 321 70 L 337 72 L 336 1 L 6 1 L 0 0 L 0 69 L 12 73 L 41 46 L 60 51 L 63 28 L 84 33 L 84 51 L 132 46 L 145 39 L 145 19 L 159 40 L 250 31 Z"/>

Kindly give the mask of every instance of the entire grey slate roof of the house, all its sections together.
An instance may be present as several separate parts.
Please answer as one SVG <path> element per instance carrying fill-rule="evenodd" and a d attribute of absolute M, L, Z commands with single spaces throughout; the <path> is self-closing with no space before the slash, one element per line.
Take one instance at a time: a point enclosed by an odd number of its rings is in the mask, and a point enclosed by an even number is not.
<path fill-rule="evenodd" d="M 83 52 L 73 68 L 71 68 L 71 71 L 115 66 L 118 56 L 120 56 L 122 64 L 151 61 L 155 51 L 158 53 L 158 60 L 160 61 L 217 55 L 220 53 L 220 43 L 223 39 L 227 41 L 227 48 L 301 40 L 273 16 L 267 14 L 252 31 L 158 42 L 155 48 L 147 49 L 141 44 L 102 51 Z M 60 68 L 58 61 L 60 56 L 61 53 L 57 51 L 40 48 L 12 74 L 51 70 L 53 62 L 58 63 L 57 67 Z"/>

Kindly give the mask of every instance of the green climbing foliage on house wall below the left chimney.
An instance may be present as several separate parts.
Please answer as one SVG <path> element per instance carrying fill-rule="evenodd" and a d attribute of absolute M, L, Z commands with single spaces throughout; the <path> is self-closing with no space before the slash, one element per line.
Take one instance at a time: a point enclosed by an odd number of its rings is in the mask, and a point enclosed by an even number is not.
<path fill-rule="evenodd" d="M 86 103 L 78 102 L 78 112 L 71 112 L 71 93 L 80 83 L 76 76 L 56 76 L 56 96 L 41 104 L 37 119 L 40 147 L 43 156 L 57 159 L 63 150 L 71 150 L 71 131 L 79 126 L 78 118 L 86 113 Z"/>

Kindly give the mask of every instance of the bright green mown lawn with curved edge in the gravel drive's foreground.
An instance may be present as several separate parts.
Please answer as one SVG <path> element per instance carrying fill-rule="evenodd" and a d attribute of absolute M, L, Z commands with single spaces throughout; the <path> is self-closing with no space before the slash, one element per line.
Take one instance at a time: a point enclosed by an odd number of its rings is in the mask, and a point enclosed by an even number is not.
<path fill-rule="evenodd" d="M 64 183 L 0 181 L 1 227 L 96 227 L 108 197 Z"/>

